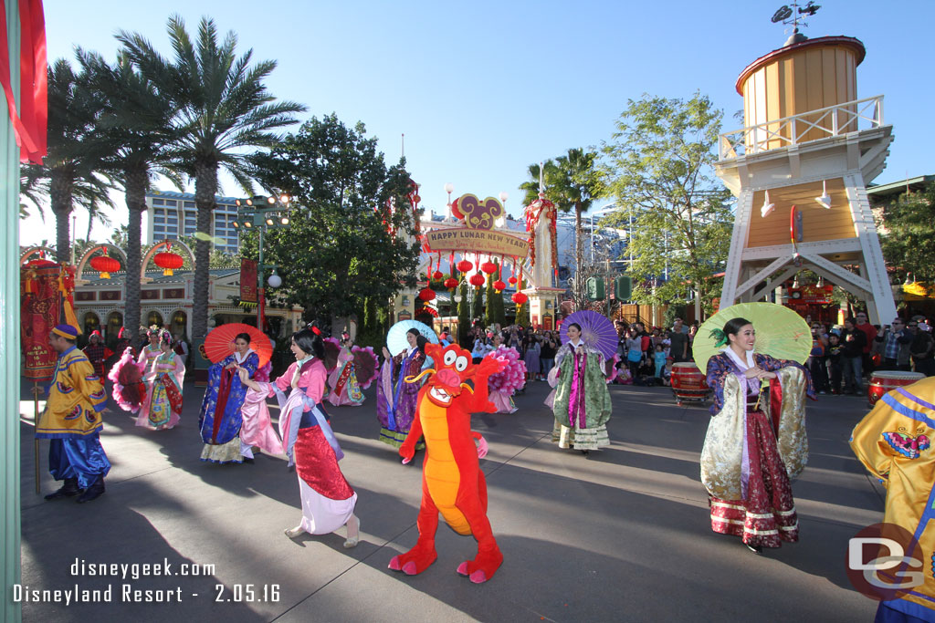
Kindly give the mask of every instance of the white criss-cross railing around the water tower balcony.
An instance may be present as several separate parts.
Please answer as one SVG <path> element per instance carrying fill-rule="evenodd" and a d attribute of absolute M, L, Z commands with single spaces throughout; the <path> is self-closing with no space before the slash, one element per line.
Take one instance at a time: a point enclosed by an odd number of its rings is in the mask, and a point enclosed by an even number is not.
<path fill-rule="evenodd" d="M 718 140 L 718 156 L 720 160 L 740 158 L 883 124 L 883 95 L 876 95 L 723 133 Z"/>

